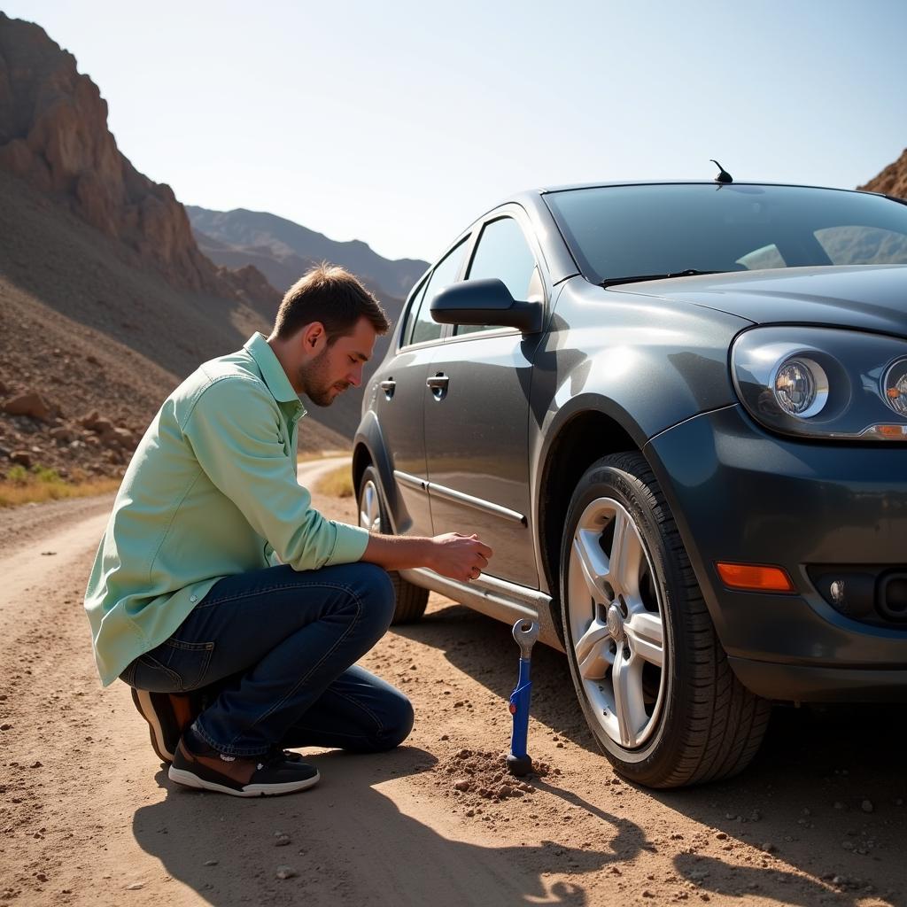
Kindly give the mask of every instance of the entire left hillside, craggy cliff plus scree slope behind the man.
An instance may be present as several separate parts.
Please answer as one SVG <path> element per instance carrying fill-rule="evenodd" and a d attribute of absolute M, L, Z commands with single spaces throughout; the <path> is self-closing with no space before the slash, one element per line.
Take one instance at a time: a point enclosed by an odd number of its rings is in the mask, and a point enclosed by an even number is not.
<path fill-rule="evenodd" d="M 73 56 L 2 13 L 0 199 L 0 476 L 119 473 L 185 375 L 270 330 L 278 291 L 205 258 Z M 317 414 L 300 441 L 347 444 Z"/>

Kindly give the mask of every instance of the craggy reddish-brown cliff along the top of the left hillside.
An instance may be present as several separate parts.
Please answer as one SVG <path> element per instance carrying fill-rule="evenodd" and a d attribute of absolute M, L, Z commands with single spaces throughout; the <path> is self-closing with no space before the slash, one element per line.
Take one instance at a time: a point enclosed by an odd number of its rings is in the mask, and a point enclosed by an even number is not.
<path fill-rule="evenodd" d="M 268 304 L 277 297 L 265 278 L 230 277 L 200 252 L 170 186 L 142 175 L 117 148 L 107 103 L 73 55 L 40 26 L 2 12 L 0 167 L 122 241 L 176 287 L 228 298 L 254 291 Z"/>

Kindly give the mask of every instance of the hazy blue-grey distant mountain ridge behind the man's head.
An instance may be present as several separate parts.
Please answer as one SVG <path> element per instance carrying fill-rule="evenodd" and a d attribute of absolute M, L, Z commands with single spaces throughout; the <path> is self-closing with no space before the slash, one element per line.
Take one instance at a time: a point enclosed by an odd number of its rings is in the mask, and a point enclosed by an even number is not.
<path fill-rule="evenodd" d="M 187 205 L 200 249 L 219 265 L 252 264 L 281 292 L 319 261 L 330 261 L 390 297 L 405 298 L 428 263 L 415 258 L 391 261 L 365 242 L 336 242 L 292 220 L 238 208 L 211 211 Z"/>

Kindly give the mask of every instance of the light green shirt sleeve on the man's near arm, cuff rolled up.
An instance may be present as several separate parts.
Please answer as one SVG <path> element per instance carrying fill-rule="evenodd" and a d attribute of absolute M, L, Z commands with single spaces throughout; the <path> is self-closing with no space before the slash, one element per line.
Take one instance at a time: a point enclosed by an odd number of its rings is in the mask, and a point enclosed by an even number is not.
<path fill-rule="evenodd" d="M 278 405 L 257 381 L 240 375 L 215 381 L 182 431 L 201 469 L 280 561 L 305 571 L 365 554 L 365 529 L 327 520 L 312 507 L 311 494 L 297 482 L 296 457 L 286 452 Z"/>

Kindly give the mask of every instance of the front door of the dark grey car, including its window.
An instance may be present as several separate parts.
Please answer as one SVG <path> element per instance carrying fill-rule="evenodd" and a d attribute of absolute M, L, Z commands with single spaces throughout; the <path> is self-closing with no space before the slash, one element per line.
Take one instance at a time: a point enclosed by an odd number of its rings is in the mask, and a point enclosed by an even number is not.
<path fill-rule="evenodd" d="M 500 278 L 520 300 L 544 297 L 520 210 L 486 219 L 466 279 Z M 478 532 L 494 550 L 486 574 L 537 589 L 527 437 L 532 356 L 541 335 L 456 325 L 427 375 L 425 453 L 432 525 Z"/>

